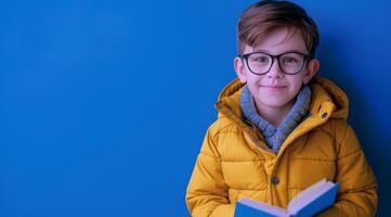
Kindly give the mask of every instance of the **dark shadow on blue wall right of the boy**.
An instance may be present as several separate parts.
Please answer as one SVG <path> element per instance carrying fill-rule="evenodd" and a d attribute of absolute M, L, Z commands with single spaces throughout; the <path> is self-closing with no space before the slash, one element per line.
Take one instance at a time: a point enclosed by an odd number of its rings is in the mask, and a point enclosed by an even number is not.
<path fill-rule="evenodd" d="M 354 72 L 349 68 L 352 62 L 343 63 L 343 56 L 338 52 L 337 40 L 333 38 L 322 38 L 322 46 L 318 50 L 318 59 L 321 61 L 320 76 L 329 78 L 340 88 L 342 88 L 350 100 L 349 108 L 349 124 L 353 127 L 361 145 L 365 152 L 365 156 L 370 164 L 379 186 L 379 207 L 377 216 L 386 215 L 386 204 L 390 204 L 389 196 L 391 195 L 390 168 L 391 156 L 389 156 L 389 146 L 386 146 L 391 141 L 390 130 L 385 128 L 386 124 L 380 119 L 376 119 L 374 114 L 374 106 L 370 105 L 368 99 L 362 94 L 365 87 L 362 87 L 360 81 L 354 79 Z M 354 63 L 360 64 L 360 63 Z M 367 72 L 370 75 L 374 72 Z M 381 101 L 378 101 L 381 103 Z M 380 106 L 380 105 L 377 105 Z M 383 126 L 383 127 L 381 127 Z"/>

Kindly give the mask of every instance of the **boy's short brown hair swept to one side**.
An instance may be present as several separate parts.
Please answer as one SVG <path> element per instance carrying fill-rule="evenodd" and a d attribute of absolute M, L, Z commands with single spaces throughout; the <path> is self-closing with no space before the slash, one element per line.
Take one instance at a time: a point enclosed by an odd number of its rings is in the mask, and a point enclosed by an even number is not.
<path fill-rule="evenodd" d="M 263 0 L 246 9 L 237 25 L 238 52 L 245 46 L 256 47 L 269 33 L 278 27 L 295 27 L 300 30 L 309 55 L 314 56 L 320 43 L 315 22 L 299 5 L 289 1 Z"/>

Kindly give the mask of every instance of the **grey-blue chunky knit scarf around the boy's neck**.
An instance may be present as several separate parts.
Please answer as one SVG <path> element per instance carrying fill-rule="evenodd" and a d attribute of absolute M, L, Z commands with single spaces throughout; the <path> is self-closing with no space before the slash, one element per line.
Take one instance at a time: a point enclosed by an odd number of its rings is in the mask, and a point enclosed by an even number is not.
<path fill-rule="evenodd" d="M 240 94 L 240 107 L 244 116 L 256 124 L 262 131 L 269 148 L 274 153 L 278 153 L 281 145 L 291 131 L 307 118 L 311 101 L 311 89 L 303 86 L 297 95 L 296 103 L 278 127 L 273 126 L 266 119 L 261 117 L 256 110 L 252 94 L 247 86 L 243 87 Z"/>

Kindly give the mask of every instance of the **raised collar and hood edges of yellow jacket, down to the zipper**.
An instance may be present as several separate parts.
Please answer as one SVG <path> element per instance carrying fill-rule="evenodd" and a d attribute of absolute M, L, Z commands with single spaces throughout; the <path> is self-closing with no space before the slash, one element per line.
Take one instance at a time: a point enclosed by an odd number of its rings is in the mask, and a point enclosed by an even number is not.
<path fill-rule="evenodd" d="M 264 143 L 264 139 L 260 131 L 257 130 L 257 126 L 251 123 L 246 123 L 243 117 L 239 98 L 244 86 L 245 85 L 236 78 L 224 87 L 216 103 L 216 108 L 219 112 L 219 118 L 226 117 L 231 119 L 239 128 L 248 132 L 251 140 L 261 140 Z M 328 118 L 348 119 L 349 99 L 343 90 L 330 80 L 322 77 L 314 77 L 309 86 L 312 91 L 310 104 L 311 117 L 301 123 L 286 139 L 284 144 L 291 143 L 292 140 L 310 131 L 316 126 L 322 125 Z M 284 144 L 281 152 L 285 150 L 284 146 L 286 145 Z M 265 144 L 262 149 L 268 150 Z"/>

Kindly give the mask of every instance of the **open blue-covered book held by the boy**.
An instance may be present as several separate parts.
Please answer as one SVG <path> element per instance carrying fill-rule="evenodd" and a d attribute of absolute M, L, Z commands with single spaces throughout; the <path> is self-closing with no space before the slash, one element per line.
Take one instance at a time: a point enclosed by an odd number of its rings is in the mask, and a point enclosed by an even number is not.
<path fill-rule="evenodd" d="M 326 179 L 322 179 L 298 193 L 289 202 L 287 209 L 243 197 L 236 203 L 235 217 L 313 216 L 334 204 L 338 186 L 338 182 L 334 183 Z"/>

